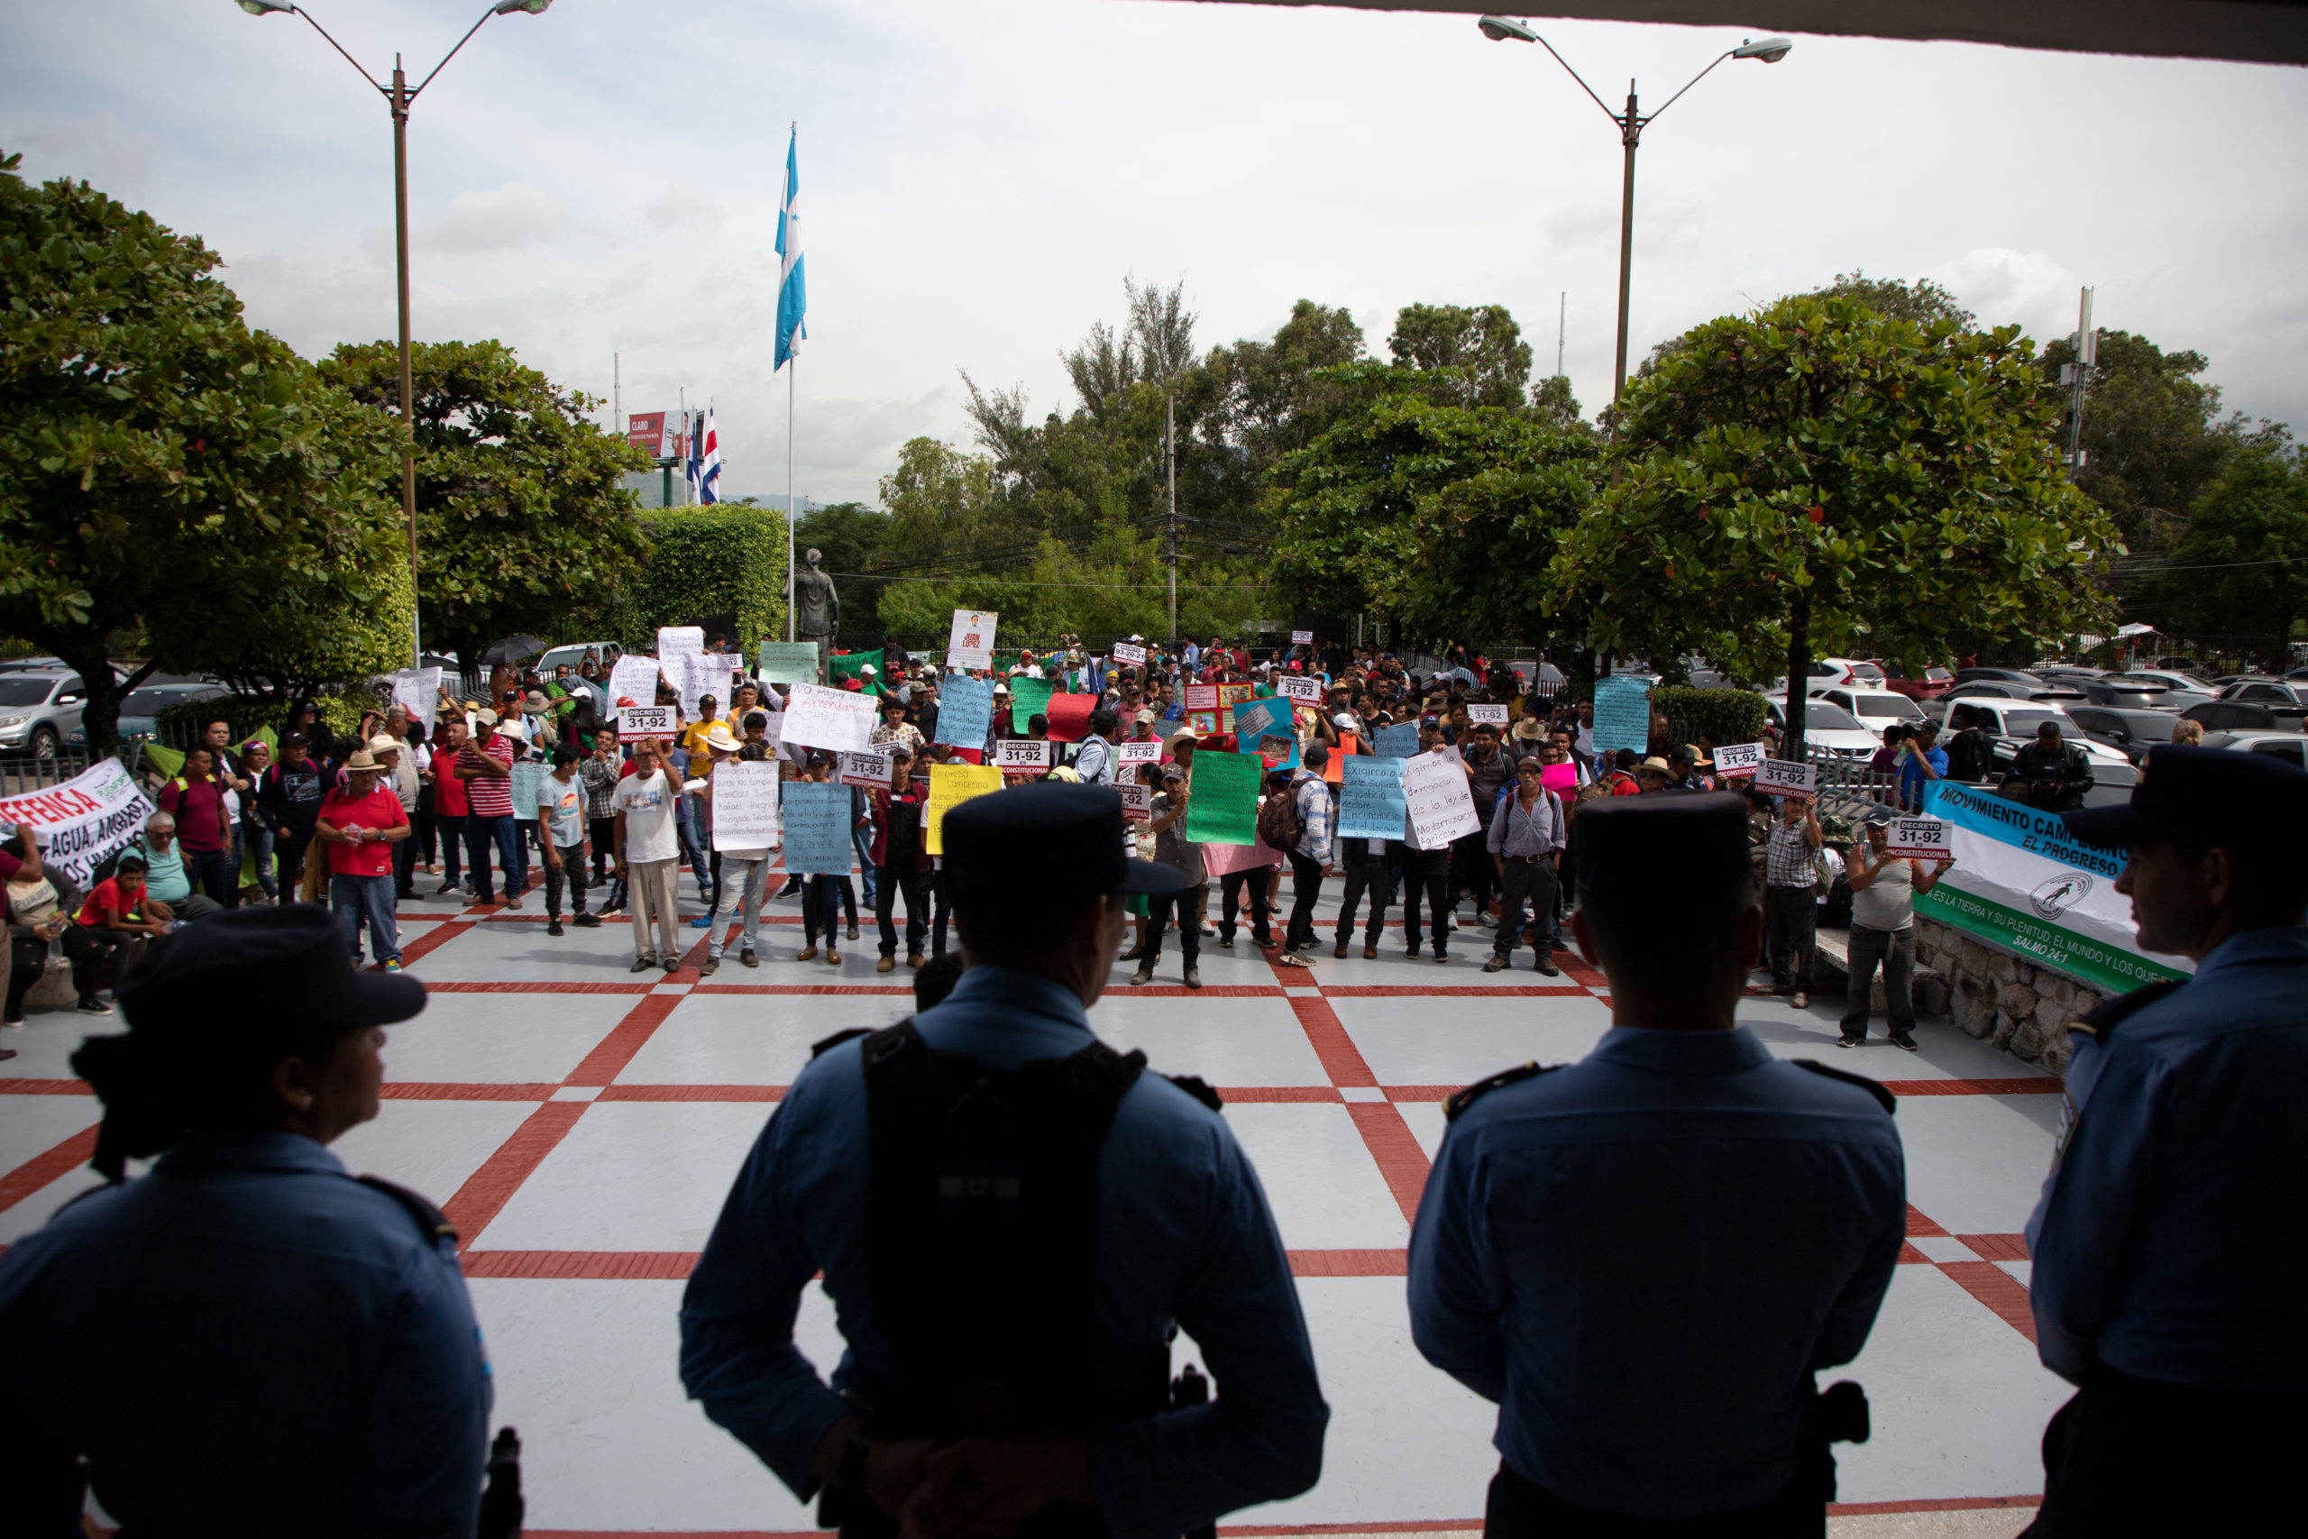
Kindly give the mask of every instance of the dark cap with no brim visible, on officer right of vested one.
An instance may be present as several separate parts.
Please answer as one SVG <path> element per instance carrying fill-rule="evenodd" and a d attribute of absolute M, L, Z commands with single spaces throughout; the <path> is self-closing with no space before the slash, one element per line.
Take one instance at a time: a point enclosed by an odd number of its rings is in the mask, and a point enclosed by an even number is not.
<path fill-rule="evenodd" d="M 1579 808 L 1579 893 L 1604 907 L 1708 902 L 1754 884 L 1747 801 L 1736 791 L 1606 796 Z"/>

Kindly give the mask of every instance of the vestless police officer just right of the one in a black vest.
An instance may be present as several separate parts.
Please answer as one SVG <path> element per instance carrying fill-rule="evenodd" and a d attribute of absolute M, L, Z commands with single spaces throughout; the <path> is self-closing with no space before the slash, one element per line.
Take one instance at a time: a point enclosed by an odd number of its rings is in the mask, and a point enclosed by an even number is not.
<path fill-rule="evenodd" d="M 1579 951 L 1611 1031 L 1447 1103 L 1410 1331 L 1498 1401 L 1484 1532 L 1823 1534 L 1828 1440 L 1899 1260 L 1893 1098 L 1733 1015 L 1763 911 L 1731 794 L 1579 810 Z"/>

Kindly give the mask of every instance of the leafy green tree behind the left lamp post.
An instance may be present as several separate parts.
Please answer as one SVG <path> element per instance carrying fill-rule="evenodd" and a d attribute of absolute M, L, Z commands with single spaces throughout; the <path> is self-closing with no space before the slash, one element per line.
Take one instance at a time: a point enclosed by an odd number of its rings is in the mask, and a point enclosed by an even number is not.
<path fill-rule="evenodd" d="M 323 378 L 385 411 L 399 351 L 346 344 Z M 572 611 L 605 611 L 646 549 L 639 503 L 619 485 L 649 457 L 501 341 L 425 341 L 413 353 L 418 581 L 429 644 L 466 669 L 517 632 L 552 635 Z M 379 482 L 399 501 L 399 468 Z"/>

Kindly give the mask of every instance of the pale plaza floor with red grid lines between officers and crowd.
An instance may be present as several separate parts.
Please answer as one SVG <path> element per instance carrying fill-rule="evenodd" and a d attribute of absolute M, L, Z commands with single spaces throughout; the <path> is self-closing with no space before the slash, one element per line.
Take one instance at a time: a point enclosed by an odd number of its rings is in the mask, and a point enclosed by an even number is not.
<path fill-rule="evenodd" d="M 392 1029 L 385 1110 L 337 1151 L 425 1191 L 464 1234 L 496 1421 L 522 1428 L 529 1532 L 817 1532 L 683 1398 L 674 1311 L 808 1045 L 902 1018 L 907 974 L 872 971 L 870 916 L 840 969 L 796 962 L 799 900 L 769 904 L 759 969 L 732 948 L 711 981 L 697 974 L 702 930 L 683 930 L 681 971 L 635 976 L 623 921 L 556 939 L 540 909 L 540 893 L 519 914 L 404 904 L 402 944 L 432 1004 Z M 1327 939 L 1334 907 L 1320 914 Z M 1528 951 L 1516 971 L 1482 974 L 1489 930 L 1456 934 L 1447 967 L 1406 960 L 1399 937 L 1378 960 L 1359 934 L 1348 960 L 1325 946 L 1311 969 L 1274 967 L 1246 934 L 1232 951 L 1205 939 L 1207 988 L 1189 994 L 1172 934 L 1152 988 L 1129 988 L 1122 964 L 1092 1011 L 1115 1045 L 1221 1089 L 1299 1276 L 1332 1403 L 1325 1474 L 1292 1502 L 1235 1514 L 1228 1532 L 1479 1527 L 1493 1407 L 1410 1345 L 1410 1216 L 1442 1096 L 1523 1059 L 1581 1057 L 1609 1006 L 1574 958 L 1560 978 L 1533 974 Z M 1867 1050 L 1835 1052 L 1835 1006 L 1754 997 L 1740 1011 L 1773 1052 L 1833 1059 L 1899 1094 L 1911 1239 L 1867 1352 L 1839 1373 L 1867 1387 L 1874 1437 L 1837 1449 L 1835 1527 L 2013 1534 L 2040 1491 L 2043 1424 L 2066 1398 L 2036 1364 L 2019 1239 L 2056 1080 L 1932 1020 L 1920 1054 L 1886 1045 L 1881 1020 Z M 95 1181 L 97 1103 L 65 1061 L 92 1024 L 32 1013 L 5 1038 L 21 1057 L 0 1068 L 0 1244 Z M 838 1357 L 815 1290 L 799 1336 L 817 1364 Z"/>

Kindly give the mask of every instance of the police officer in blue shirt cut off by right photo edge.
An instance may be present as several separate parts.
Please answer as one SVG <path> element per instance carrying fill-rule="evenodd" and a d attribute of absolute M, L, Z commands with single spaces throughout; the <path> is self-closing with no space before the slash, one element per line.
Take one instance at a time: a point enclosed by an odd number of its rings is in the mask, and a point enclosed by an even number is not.
<path fill-rule="evenodd" d="M 2308 1444 L 2308 773 L 2156 748 L 2121 808 L 2140 948 L 2186 983 L 2070 1029 L 2068 1119 L 2029 1218 L 2043 1435 L 2029 1534 L 2301 1532 Z"/>

